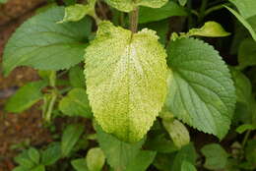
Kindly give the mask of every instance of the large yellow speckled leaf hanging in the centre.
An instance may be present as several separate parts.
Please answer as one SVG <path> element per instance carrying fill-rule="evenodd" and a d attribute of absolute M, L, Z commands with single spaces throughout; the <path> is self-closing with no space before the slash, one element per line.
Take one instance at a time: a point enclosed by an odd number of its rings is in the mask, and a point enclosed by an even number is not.
<path fill-rule="evenodd" d="M 89 100 L 102 129 L 126 142 L 149 131 L 166 93 L 165 51 L 156 32 L 102 22 L 86 49 Z"/>

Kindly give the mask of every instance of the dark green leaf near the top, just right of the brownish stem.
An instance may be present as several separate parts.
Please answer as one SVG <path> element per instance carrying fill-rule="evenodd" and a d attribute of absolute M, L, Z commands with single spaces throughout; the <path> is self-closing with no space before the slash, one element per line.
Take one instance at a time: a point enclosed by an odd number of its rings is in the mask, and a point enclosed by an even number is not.
<path fill-rule="evenodd" d="M 184 8 L 176 3 L 169 1 L 164 6 L 158 9 L 141 7 L 139 13 L 139 23 L 149 23 L 160 21 L 172 16 L 187 16 Z"/>

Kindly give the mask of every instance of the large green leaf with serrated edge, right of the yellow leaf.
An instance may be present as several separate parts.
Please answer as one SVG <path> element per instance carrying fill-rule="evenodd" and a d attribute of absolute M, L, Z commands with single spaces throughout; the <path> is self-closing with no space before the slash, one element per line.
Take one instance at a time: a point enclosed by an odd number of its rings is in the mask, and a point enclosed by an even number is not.
<path fill-rule="evenodd" d="M 223 139 L 235 104 L 235 89 L 218 52 L 194 38 L 167 47 L 168 94 L 165 105 L 184 123 Z"/>

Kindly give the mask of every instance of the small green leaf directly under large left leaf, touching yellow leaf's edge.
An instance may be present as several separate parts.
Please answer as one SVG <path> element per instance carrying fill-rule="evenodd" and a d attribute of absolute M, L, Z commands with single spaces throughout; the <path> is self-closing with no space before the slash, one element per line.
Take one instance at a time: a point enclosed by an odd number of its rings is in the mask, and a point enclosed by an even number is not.
<path fill-rule="evenodd" d="M 69 70 L 69 82 L 74 87 L 86 86 L 84 70 L 80 66 L 77 65 Z"/>

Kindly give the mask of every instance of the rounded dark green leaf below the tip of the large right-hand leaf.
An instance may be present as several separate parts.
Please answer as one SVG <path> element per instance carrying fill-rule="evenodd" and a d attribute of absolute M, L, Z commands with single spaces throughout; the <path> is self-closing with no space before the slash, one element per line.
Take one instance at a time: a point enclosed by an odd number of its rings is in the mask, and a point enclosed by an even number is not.
<path fill-rule="evenodd" d="M 224 169 L 228 155 L 220 144 L 207 144 L 201 148 L 201 152 L 206 156 L 205 168 L 210 170 Z"/>

